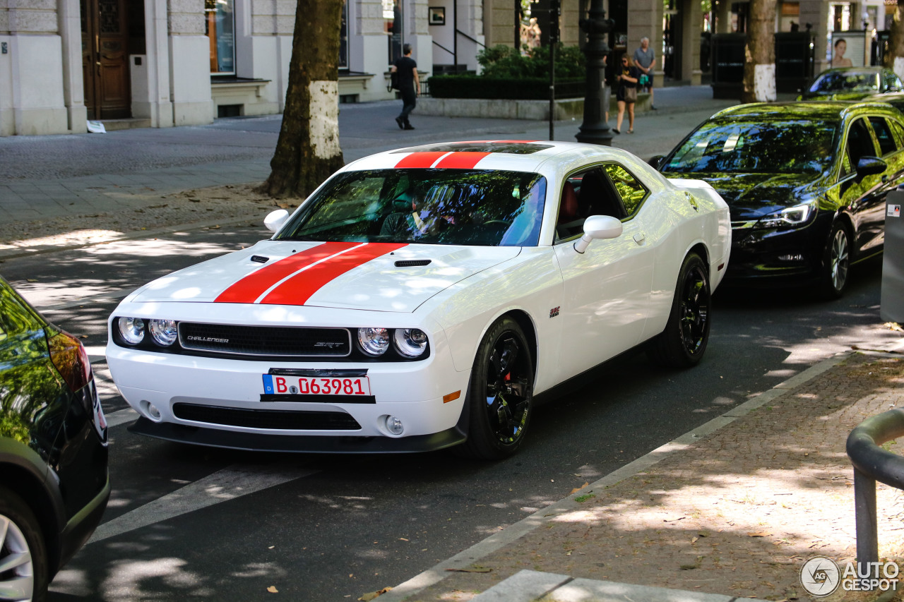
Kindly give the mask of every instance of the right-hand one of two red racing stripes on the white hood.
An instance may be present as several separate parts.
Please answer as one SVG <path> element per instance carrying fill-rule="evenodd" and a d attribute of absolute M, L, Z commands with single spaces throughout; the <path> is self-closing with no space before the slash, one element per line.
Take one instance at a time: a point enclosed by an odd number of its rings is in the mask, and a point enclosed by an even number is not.
<path fill-rule="evenodd" d="M 345 272 L 362 266 L 394 250 L 407 246 L 406 243 L 370 242 L 342 255 L 307 268 L 301 274 L 290 277 L 274 288 L 260 303 L 268 305 L 303 306 L 314 294 L 342 276 Z"/>

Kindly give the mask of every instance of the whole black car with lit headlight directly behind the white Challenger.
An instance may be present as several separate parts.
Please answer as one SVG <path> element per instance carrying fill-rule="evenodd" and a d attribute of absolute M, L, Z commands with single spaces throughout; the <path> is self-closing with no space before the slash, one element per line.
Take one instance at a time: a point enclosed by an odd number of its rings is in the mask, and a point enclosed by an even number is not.
<path fill-rule="evenodd" d="M 836 297 L 848 268 L 882 251 L 902 148 L 904 116 L 886 104 L 758 103 L 720 111 L 655 165 L 729 203 L 726 283 L 815 284 Z"/>

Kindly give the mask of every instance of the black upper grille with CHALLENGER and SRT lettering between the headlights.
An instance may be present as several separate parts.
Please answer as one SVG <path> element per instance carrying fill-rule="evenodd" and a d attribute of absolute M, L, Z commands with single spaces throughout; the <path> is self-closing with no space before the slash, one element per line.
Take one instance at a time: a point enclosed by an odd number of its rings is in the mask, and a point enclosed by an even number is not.
<path fill-rule="evenodd" d="M 180 322 L 179 343 L 193 351 L 241 355 L 345 357 L 352 353 L 352 336 L 345 328 Z"/>

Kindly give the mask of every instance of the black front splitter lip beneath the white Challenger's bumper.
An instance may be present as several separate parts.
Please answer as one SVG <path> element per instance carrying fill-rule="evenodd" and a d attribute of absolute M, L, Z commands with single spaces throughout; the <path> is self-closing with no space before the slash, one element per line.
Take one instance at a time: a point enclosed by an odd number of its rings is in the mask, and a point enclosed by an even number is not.
<path fill-rule="evenodd" d="M 412 437 L 348 437 L 329 435 L 260 435 L 218 428 L 186 427 L 139 418 L 130 432 L 195 446 L 223 447 L 244 451 L 293 452 L 301 454 L 414 454 L 464 443 L 466 435 L 457 427 Z"/>

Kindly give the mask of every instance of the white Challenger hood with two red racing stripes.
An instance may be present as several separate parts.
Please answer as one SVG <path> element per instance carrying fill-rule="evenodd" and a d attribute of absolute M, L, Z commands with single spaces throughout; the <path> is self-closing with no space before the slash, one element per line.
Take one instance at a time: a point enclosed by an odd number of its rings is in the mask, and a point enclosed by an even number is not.
<path fill-rule="evenodd" d="M 520 251 L 520 247 L 264 240 L 158 278 L 127 300 L 413 312 L 431 296 L 513 259 Z"/>

